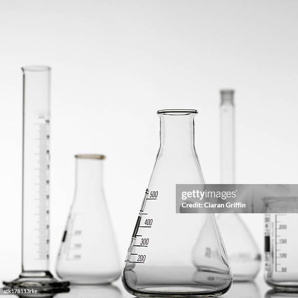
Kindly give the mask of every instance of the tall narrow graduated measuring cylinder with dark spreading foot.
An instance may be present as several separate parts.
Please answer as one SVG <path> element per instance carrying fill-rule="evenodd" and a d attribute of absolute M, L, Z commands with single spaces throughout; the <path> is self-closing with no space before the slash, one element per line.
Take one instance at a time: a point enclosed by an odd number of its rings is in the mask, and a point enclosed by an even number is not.
<path fill-rule="evenodd" d="M 69 285 L 49 271 L 50 68 L 23 71 L 22 270 L 9 287 L 59 292 Z"/>

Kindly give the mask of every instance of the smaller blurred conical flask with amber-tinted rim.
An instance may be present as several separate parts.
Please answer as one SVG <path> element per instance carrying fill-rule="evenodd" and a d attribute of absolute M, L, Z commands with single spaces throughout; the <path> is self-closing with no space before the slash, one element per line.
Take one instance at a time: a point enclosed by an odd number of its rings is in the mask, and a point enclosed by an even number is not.
<path fill-rule="evenodd" d="M 56 263 L 60 278 L 103 284 L 121 274 L 103 188 L 104 155 L 75 155 L 75 197 Z"/>

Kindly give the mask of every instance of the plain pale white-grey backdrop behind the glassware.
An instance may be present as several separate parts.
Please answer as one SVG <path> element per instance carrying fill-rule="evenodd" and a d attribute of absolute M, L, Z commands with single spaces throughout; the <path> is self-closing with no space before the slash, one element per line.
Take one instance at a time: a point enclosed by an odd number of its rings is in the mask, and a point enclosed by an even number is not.
<path fill-rule="evenodd" d="M 197 109 L 206 183 L 219 182 L 219 90 L 236 90 L 237 182 L 297 183 L 298 1 L 1 0 L 0 265 L 20 272 L 21 71 L 50 65 L 51 265 L 75 153 L 103 153 L 121 261 L 158 149 L 160 109 Z M 174 202 L 173 202 L 174 204 Z M 262 250 L 262 216 L 245 216 Z"/>

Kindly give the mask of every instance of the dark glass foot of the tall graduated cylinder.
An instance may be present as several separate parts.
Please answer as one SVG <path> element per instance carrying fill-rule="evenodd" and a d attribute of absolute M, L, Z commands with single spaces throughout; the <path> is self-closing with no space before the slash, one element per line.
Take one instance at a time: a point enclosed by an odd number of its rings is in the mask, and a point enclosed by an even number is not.
<path fill-rule="evenodd" d="M 69 292 L 70 283 L 55 279 L 50 271 L 23 271 L 19 278 L 3 284 L 9 288 L 37 288 L 43 294 Z"/>

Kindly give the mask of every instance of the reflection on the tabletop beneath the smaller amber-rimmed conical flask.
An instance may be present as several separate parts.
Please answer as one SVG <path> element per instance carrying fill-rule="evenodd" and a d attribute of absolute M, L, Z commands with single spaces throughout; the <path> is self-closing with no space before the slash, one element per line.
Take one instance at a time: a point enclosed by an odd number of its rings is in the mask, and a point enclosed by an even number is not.
<path fill-rule="evenodd" d="M 111 284 L 71 285 L 69 293 L 57 294 L 55 298 L 121 298 L 121 292 Z"/>

